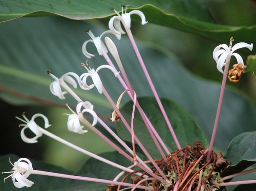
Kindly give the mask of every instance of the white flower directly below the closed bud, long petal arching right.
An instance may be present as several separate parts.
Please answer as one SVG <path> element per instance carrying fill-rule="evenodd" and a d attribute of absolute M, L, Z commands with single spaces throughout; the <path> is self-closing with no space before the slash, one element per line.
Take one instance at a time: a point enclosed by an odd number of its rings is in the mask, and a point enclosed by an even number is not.
<path fill-rule="evenodd" d="M 82 66 L 84 66 L 88 72 L 83 73 L 80 76 L 79 85 L 82 89 L 85 89 L 85 90 L 92 89 L 94 86 L 96 86 L 99 93 L 103 92 L 102 82 L 101 82 L 101 79 L 100 79 L 99 74 L 98 74 L 98 71 L 102 68 L 110 69 L 114 73 L 115 77 L 117 77 L 117 75 L 119 74 L 119 72 L 117 72 L 114 68 L 112 68 L 109 65 L 101 65 L 96 69 L 96 71 L 94 69 L 91 69 L 90 66 L 86 67 L 86 64 L 82 63 Z M 89 76 L 92 78 L 92 81 L 93 81 L 93 84 L 91 84 L 91 85 L 87 85 L 87 82 L 86 82 L 86 79 Z"/>

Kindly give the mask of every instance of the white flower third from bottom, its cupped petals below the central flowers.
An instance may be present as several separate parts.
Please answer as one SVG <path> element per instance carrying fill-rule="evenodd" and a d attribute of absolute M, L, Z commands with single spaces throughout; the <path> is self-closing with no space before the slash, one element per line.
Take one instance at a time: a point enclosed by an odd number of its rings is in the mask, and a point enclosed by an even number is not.
<path fill-rule="evenodd" d="M 86 106 L 86 108 L 81 111 L 82 106 Z M 73 131 L 74 133 L 78 133 L 78 134 L 83 134 L 87 132 L 87 130 L 83 130 L 84 126 L 80 125 L 80 121 L 79 121 L 79 119 L 83 117 L 84 112 L 88 112 L 89 114 L 92 115 L 93 117 L 92 126 L 96 125 L 98 121 L 98 116 L 95 113 L 95 111 L 93 111 L 93 105 L 90 102 L 86 101 L 86 102 L 78 103 L 76 108 L 77 113 L 75 113 L 69 106 L 68 108 L 70 109 L 71 112 L 73 112 L 73 114 L 67 114 L 69 115 L 68 122 L 67 122 L 69 131 Z"/>

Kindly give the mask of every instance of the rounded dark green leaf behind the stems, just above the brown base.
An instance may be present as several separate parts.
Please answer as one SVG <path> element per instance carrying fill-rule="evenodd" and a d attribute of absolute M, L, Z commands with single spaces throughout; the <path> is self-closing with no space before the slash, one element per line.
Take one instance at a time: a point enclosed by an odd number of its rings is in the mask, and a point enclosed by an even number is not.
<path fill-rule="evenodd" d="M 164 117 L 155 98 L 138 98 L 138 102 L 166 146 L 172 151 L 176 150 L 177 147 L 175 142 L 170 134 L 170 130 L 166 122 L 164 121 Z M 161 102 L 166 110 L 167 116 L 172 124 L 173 130 L 175 131 L 181 147 L 185 147 L 186 144 L 193 145 L 195 141 L 201 141 L 203 145 L 206 146 L 207 140 L 203 131 L 201 131 L 194 118 L 185 109 L 169 99 L 161 99 Z M 121 113 L 129 124 L 132 108 L 132 101 L 128 102 L 121 108 Z M 154 158 L 160 157 L 157 147 L 149 135 L 138 110 L 135 112 L 134 132 L 142 144 L 144 144 L 146 150 L 148 150 Z M 121 122 L 117 122 L 117 133 L 121 139 L 131 142 L 132 139 L 130 133 Z"/>

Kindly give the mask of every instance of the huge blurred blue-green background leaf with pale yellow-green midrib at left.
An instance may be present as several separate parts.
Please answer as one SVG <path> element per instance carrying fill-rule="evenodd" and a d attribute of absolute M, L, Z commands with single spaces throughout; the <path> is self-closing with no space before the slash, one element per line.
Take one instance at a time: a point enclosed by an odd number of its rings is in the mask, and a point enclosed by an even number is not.
<path fill-rule="evenodd" d="M 52 79 L 46 75 L 46 71 L 51 70 L 58 77 L 69 71 L 77 72 L 78 75 L 85 72 L 81 71 L 80 66 L 80 62 L 86 60 L 81 53 L 81 45 L 89 37 L 83 30 L 91 27 L 95 35 L 101 34 L 104 28 L 97 25 L 97 22 L 90 24 L 47 17 L 24 18 L 2 23 L 0 42 L 4 48 L 0 51 L 0 83 L 5 89 L 2 88 L 1 98 L 13 103 L 10 95 L 22 94 L 22 98 L 27 98 L 26 102 L 34 100 L 32 98 L 39 98 L 54 104 L 64 105 L 68 102 L 75 105 L 76 101 L 70 95 L 66 96 L 67 99 L 60 100 L 50 93 L 49 85 Z M 33 31 L 29 32 L 31 28 Z M 129 41 L 125 36 L 121 41 L 113 40 L 117 44 L 121 60 L 137 95 L 152 96 Z M 178 58 L 169 51 L 157 51 L 138 44 L 159 95 L 170 98 L 187 109 L 209 140 L 216 115 L 220 84 L 195 77 L 184 69 Z M 89 51 L 96 52 L 95 48 L 90 48 Z M 106 62 L 96 56 L 89 60 L 89 63 L 91 67 L 96 68 Z M 110 71 L 102 70 L 99 74 L 112 98 L 117 100 L 123 91 L 120 84 Z M 78 93 L 85 101 L 91 101 L 97 112 L 110 117 L 110 104 L 97 90 L 78 90 Z M 124 102 L 126 100 L 124 98 Z M 43 103 L 47 104 L 44 101 Z M 241 92 L 226 88 L 215 146 L 226 149 L 235 136 L 244 131 L 253 131 L 255 124 L 255 108 L 241 97 Z"/>

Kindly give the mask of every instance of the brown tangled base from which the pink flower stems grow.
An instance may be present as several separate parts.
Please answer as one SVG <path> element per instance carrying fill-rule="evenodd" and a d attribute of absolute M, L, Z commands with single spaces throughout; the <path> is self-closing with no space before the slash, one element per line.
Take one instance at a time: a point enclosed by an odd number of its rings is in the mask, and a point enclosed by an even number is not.
<path fill-rule="evenodd" d="M 151 176 L 142 170 L 127 173 L 122 182 L 137 184 L 146 175 L 149 178 L 141 185 L 152 187 L 154 191 L 173 191 L 174 189 L 177 191 L 196 191 L 202 186 L 204 186 L 204 190 L 217 191 L 219 187 L 216 185 L 222 183 L 220 174 L 223 169 L 229 167 L 230 162 L 224 159 L 221 152 L 212 152 L 210 160 L 207 161 L 207 151 L 208 149 L 204 148 L 200 141 L 197 141 L 193 146 L 188 144 L 185 148 L 167 155 L 167 162 L 164 159 L 155 160 L 167 177 L 166 184 L 150 178 Z M 154 166 L 151 167 L 151 170 L 160 176 Z M 137 172 L 141 172 L 142 175 L 135 175 Z M 108 185 L 107 191 L 120 191 L 125 188 L 118 185 Z M 136 190 L 140 189 L 137 188 Z"/>

